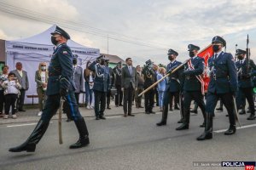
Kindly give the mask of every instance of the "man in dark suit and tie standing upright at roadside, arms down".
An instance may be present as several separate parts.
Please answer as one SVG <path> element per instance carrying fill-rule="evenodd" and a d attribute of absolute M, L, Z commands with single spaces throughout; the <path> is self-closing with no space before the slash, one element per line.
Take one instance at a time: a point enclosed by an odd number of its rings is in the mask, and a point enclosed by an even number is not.
<path fill-rule="evenodd" d="M 125 59 L 126 66 L 122 68 L 122 91 L 124 92 L 124 116 L 134 116 L 131 114 L 131 105 L 134 91 L 137 88 L 137 71 L 132 66 L 131 58 Z M 128 104 L 128 106 L 127 106 Z M 128 112 L 127 112 L 128 107 Z"/>

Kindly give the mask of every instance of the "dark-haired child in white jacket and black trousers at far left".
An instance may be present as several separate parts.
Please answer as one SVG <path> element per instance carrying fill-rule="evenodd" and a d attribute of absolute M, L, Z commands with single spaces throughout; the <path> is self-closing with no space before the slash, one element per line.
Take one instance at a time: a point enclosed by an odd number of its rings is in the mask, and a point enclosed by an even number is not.
<path fill-rule="evenodd" d="M 20 93 L 19 89 L 21 88 L 20 83 L 18 82 L 17 78 L 15 77 L 15 73 L 11 72 L 8 75 L 8 80 L 3 82 L 4 88 L 4 98 L 5 98 L 5 105 L 4 105 L 4 112 L 5 116 L 4 119 L 8 119 L 9 117 L 9 110 L 10 106 L 12 106 L 12 118 L 17 118 L 16 111 L 15 111 L 15 103 L 18 98 L 18 94 Z"/>

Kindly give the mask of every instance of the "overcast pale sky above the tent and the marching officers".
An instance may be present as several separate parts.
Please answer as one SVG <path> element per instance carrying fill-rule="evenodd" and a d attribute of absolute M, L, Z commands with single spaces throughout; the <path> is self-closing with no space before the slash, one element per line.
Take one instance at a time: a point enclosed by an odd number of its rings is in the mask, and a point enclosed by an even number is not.
<path fill-rule="evenodd" d="M 256 0 L 0 0 L 0 21 L 1 39 L 31 37 L 56 24 L 75 42 L 140 65 L 147 59 L 166 65 L 169 48 L 183 61 L 189 43 L 205 48 L 217 35 L 234 54 L 236 44 L 246 48 L 249 34 L 252 59 L 256 53 Z"/>

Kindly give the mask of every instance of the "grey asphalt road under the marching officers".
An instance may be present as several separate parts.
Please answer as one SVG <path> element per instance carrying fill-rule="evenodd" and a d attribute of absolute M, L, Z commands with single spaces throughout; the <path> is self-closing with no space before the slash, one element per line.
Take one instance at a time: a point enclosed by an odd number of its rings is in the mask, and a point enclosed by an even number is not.
<path fill-rule="evenodd" d="M 240 116 L 237 133 L 225 136 L 226 112 L 213 120 L 212 140 L 197 141 L 203 128 L 201 113 L 191 116 L 189 130 L 176 131 L 179 112 L 172 111 L 165 127 L 156 127 L 160 114 L 135 117 L 108 116 L 96 121 L 85 118 L 90 145 L 69 150 L 79 135 L 73 122 L 62 123 L 64 144 L 58 144 L 57 122 L 53 120 L 34 153 L 10 153 L 9 147 L 24 142 L 35 124 L 0 125 L 0 169 L 244 169 L 244 167 L 195 167 L 195 161 L 256 161 L 256 121 Z M 26 125 L 28 124 L 28 125 Z"/>

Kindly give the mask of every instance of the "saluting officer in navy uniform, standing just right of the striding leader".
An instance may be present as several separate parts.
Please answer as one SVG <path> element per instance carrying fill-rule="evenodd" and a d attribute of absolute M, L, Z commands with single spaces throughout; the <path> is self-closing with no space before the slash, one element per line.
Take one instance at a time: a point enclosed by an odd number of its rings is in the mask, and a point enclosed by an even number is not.
<path fill-rule="evenodd" d="M 105 56 L 101 55 L 89 66 L 89 69 L 95 72 L 93 92 L 95 96 L 94 111 L 96 120 L 106 119 L 104 111 L 106 108 L 106 95 L 108 90 L 110 90 L 110 79 L 105 62 Z"/>

